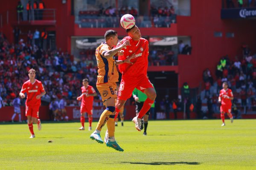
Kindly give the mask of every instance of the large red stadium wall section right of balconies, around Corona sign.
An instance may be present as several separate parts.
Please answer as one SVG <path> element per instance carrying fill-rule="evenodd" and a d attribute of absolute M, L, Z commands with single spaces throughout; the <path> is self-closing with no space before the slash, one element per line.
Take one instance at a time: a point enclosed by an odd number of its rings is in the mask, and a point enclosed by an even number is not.
<path fill-rule="evenodd" d="M 192 44 L 192 55 L 178 57 L 180 87 L 183 82 L 198 87 L 204 69 L 215 74 L 218 61 L 226 54 L 230 59 L 241 57 L 243 43 L 251 49 L 256 46 L 255 20 L 221 20 L 220 14 L 221 0 L 192 0 L 191 17 L 177 16 L 178 35 L 191 36 Z M 215 31 L 223 36 L 214 37 Z M 227 32 L 233 32 L 235 37 L 227 38 Z"/>

